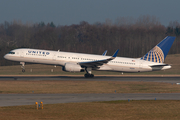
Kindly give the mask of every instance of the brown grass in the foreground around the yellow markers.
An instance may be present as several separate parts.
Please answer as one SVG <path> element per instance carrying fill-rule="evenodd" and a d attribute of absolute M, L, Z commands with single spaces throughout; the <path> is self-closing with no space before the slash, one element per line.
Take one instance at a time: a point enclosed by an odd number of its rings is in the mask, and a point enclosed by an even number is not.
<path fill-rule="evenodd" d="M 1 120 L 179 120 L 180 101 L 133 100 L 0 107 Z"/>

